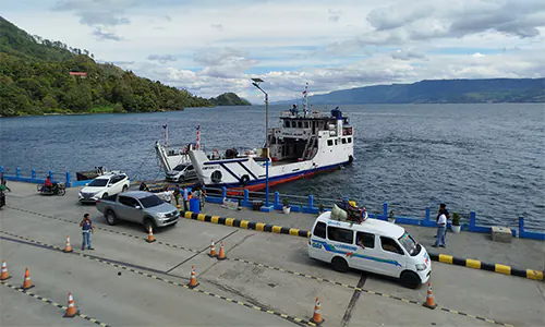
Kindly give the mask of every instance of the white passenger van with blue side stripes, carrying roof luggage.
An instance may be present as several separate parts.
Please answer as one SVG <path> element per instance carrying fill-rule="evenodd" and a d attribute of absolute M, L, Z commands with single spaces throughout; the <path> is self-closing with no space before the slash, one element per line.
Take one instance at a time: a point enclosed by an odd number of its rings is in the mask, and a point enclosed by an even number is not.
<path fill-rule="evenodd" d="M 401 279 L 409 288 L 426 283 L 432 261 L 424 246 L 388 221 L 366 219 L 358 223 L 322 214 L 308 240 L 308 256 L 331 263 L 339 271 L 356 268 Z"/>

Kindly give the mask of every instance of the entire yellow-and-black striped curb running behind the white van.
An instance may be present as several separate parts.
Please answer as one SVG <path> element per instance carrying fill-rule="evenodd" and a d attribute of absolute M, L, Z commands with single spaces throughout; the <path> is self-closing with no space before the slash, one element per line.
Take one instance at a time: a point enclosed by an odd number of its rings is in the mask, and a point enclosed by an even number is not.
<path fill-rule="evenodd" d="M 249 220 L 240 220 L 235 218 L 223 218 L 220 216 L 210 216 L 210 215 L 204 215 L 204 214 L 196 214 L 192 211 L 182 211 L 182 216 L 186 219 L 193 219 L 193 220 L 198 220 L 198 221 L 206 221 L 206 222 L 211 222 L 211 223 L 218 223 L 218 225 L 225 225 L 225 226 L 231 226 L 231 227 L 239 227 L 243 229 L 251 229 L 251 230 L 256 230 L 256 231 L 262 231 L 262 232 L 274 232 L 274 233 L 280 233 L 280 234 L 289 234 L 292 237 L 301 237 L 301 238 L 310 238 L 311 232 L 301 230 L 299 228 L 289 228 L 289 227 L 281 227 L 281 226 L 276 226 L 276 225 L 269 225 L 269 223 L 264 223 L 264 222 L 255 222 L 255 221 L 249 221 Z M 493 271 L 493 272 L 498 272 L 498 274 L 504 274 L 504 275 L 511 275 L 511 276 L 517 276 L 517 277 L 523 277 L 528 279 L 534 279 L 534 280 L 544 280 L 543 279 L 543 271 L 541 270 L 533 270 L 533 269 L 519 269 L 519 268 L 513 268 L 511 266 L 506 266 L 501 264 L 486 264 L 476 259 L 470 259 L 470 258 L 459 258 L 455 257 L 451 255 L 447 254 L 436 254 L 436 253 L 429 253 L 429 257 L 434 262 L 438 263 L 444 263 L 444 264 L 451 264 L 456 266 L 464 266 L 464 267 L 470 267 L 474 269 L 482 269 L 482 270 L 487 270 L 487 271 Z"/>

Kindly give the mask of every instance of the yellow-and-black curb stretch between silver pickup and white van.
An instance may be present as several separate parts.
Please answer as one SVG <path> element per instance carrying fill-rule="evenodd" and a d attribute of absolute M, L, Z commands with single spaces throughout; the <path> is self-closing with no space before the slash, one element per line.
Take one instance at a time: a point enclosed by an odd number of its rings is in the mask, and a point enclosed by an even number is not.
<path fill-rule="evenodd" d="M 301 230 L 299 228 L 281 227 L 281 226 L 264 223 L 264 222 L 254 222 L 254 221 L 249 221 L 249 220 L 240 220 L 240 219 L 235 219 L 235 218 L 225 218 L 225 217 L 220 217 L 220 216 L 196 214 L 196 213 L 192 213 L 192 211 L 180 210 L 180 213 L 186 219 L 206 221 L 206 222 L 225 225 L 225 226 L 230 226 L 230 227 L 238 227 L 238 228 L 243 228 L 243 229 L 251 229 L 251 230 L 262 231 L 262 232 L 288 234 L 288 235 L 292 235 L 292 237 L 301 237 L 301 238 L 306 238 L 306 239 L 311 237 L 310 231 Z"/>

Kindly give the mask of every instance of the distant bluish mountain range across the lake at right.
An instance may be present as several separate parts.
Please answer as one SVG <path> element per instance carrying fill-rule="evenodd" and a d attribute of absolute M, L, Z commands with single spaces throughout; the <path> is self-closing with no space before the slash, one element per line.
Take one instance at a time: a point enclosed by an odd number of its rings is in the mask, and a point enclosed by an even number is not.
<path fill-rule="evenodd" d="M 315 105 L 545 102 L 545 78 L 429 80 L 335 90 L 311 96 L 308 101 Z"/>

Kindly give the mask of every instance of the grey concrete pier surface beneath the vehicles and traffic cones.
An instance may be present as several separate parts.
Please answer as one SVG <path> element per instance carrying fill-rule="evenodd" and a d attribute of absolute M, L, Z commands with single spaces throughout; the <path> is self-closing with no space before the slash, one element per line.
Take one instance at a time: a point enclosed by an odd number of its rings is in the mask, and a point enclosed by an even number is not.
<path fill-rule="evenodd" d="M 3 326 L 312 326 L 319 296 L 324 326 L 543 326 L 543 281 L 434 263 L 432 283 L 438 308 L 422 306 L 426 288 L 405 289 L 396 280 L 340 274 L 306 255 L 304 238 L 181 219 L 154 231 L 147 243 L 140 226 L 110 227 L 92 206 L 65 196 L 41 196 L 36 185 L 10 182 L 0 209 L 0 258 L 12 278 L 0 284 Z M 81 251 L 84 213 L 96 228 L 94 251 Z M 310 230 L 312 215 L 229 210 L 206 204 L 205 214 Z M 429 252 L 434 229 L 408 227 Z M 66 235 L 74 253 L 62 253 Z M 228 259 L 208 257 L 210 241 L 222 241 Z M 447 254 L 542 269 L 544 243 L 484 234 L 447 234 Z M 199 286 L 185 287 L 195 266 Z M 34 288 L 14 290 L 29 268 Z M 62 318 L 68 293 L 80 315 Z M 37 300 L 32 293 L 43 299 Z M 96 320 L 89 320 L 92 319 Z M 104 326 L 102 325 L 102 326 Z"/>

